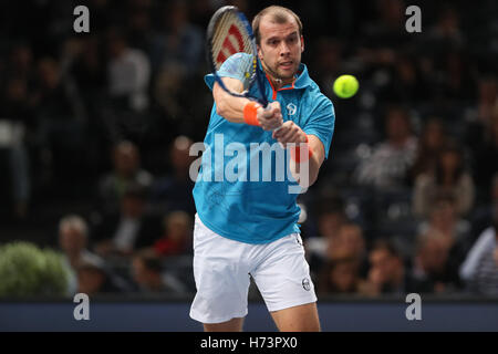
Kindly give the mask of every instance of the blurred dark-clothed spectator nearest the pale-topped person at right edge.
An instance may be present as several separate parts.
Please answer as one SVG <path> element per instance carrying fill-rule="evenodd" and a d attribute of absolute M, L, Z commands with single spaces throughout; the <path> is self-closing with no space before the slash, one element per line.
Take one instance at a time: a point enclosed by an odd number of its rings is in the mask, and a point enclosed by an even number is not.
<path fill-rule="evenodd" d="M 444 238 L 437 230 L 419 235 L 413 262 L 413 277 L 428 282 L 435 293 L 448 293 L 460 288 L 458 272 L 449 261 Z"/>

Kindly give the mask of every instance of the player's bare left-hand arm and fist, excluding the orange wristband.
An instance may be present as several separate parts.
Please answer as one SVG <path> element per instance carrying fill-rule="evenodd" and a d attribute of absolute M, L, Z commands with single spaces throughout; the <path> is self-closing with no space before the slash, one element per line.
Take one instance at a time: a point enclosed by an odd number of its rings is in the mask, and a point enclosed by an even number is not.
<path fill-rule="evenodd" d="M 234 77 L 221 77 L 225 86 L 232 92 L 242 92 L 243 84 L 241 81 Z M 227 93 L 215 83 L 212 87 L 212 97 L 216 102 L 216 113 L 225 119 L 232 123 L 246 123 L 245 107 L 252 101 L 246 97 L 236 97 Z M 272 102 L 268 105 L 268 110 L 263 110 L 261 105 L 257 105 L 257 119 L 261 128 L 264 131 L 272 131 L 283 123 L 282 113 L 280 111 L 280 103 Z"/>

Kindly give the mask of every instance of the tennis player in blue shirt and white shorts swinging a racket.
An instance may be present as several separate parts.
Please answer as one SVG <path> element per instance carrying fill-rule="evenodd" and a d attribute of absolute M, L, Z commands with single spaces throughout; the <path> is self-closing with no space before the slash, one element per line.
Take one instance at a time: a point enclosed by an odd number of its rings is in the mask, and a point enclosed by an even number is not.
<path fill-rule="evenodd" d="M 204 143 L 215 150 L 216 136 L 218 142 L 222 136 L 224 147 L 239 143 L 247 152 L 255 143 L 276 144 L 288 150 L 301 143 L 301 149 L 292 149 L 286 164 L 290 160 L 292 176 L 299 176 L 302 164 L 308 164 L 309 176 L 302 178 L 308 179 L 305 188 L 317 180 L 328 157 L 334 108 L 301 63 L 304 40 L 294 12 L 276 6 L 266 8 L 256 15 L 252 28 L 269 108 L 226 93 L 214 84 L 212 75 L 207 75 L 215 105 Z M 242 91 L 243 72 L 239 69 L 243 63 L 238 61 L 243 60 L 243 55 L 232 55 L 218 71 L 231 91 Z M 255 155 L 247 154 L 247 166 L 255 162 Z M 277 155 L 271 155 L 272 166 Z M 270 181 L 209 181 L 203 174 L 225 171 L 230 160 L 205 157 L 194 187 L 197 293 L 190 316 L 204 323 L 205 331 L 241 331 L 252 277 L 280 331 L 320 331 L 317 295 L 297 223 L 298 194 L 290 194 L 288 188 L 299 178 L 278 180 L 272 168 Z"/>

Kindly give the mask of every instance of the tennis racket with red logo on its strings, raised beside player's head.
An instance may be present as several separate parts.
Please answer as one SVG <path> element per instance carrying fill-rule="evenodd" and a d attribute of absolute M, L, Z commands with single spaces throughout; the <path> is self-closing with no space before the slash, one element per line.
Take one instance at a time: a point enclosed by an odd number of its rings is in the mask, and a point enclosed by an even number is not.
<path fill-rule="evenodd" d="M 264 108 L 268 100 L 264 94 L 263 77 L 258 70 L 258 51 L 249 21 L 236 7 L 227 6 L 218 9 L 209 21 L 207 29 L 207 54 L 211 72 L 219 86 L 236 97 L 257 101 Z M 234 73 L 243 73 L 243 91 L 232 92 L 218 76 L 221 65 L 238 55 L 237 65 L 227 63 L 226 67 Z M 250 96 L 250 88 L 257 86 L 259 96 Z"/>

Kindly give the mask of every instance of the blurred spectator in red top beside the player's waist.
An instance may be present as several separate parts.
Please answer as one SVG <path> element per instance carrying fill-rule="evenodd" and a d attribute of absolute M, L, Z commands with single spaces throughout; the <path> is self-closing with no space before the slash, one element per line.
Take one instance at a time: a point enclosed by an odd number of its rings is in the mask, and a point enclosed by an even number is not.
<path fill-rule="evenodd" d="M 164 236 L 154 243 L 157 256 L 191 252 L 191 219 L 185 211 L 173 211 L 164 218 Z"/>

